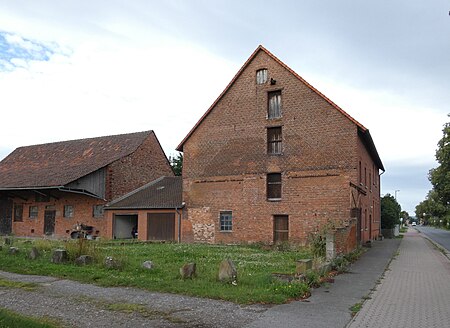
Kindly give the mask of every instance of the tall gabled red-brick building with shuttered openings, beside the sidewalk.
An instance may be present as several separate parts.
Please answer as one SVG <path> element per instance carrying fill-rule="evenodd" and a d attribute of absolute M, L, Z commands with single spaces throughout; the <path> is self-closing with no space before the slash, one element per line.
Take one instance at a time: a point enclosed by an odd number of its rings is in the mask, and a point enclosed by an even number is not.
<path fill-rule="evenodd" d="M 369 130 L 262 46 L 177 149 L 184 241 L 303 244 L 328 227 L 345 252 L 379 235 Z"/>

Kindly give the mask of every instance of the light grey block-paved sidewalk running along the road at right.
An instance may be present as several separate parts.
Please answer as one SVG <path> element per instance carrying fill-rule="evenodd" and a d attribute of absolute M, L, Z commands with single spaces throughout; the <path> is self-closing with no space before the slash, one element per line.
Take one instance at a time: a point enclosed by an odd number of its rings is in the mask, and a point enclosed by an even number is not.
<path fill-rule="evenodd" d="M 450 261 L 409 229 L 381 285 L 349 328 L 449 327 Z"/>

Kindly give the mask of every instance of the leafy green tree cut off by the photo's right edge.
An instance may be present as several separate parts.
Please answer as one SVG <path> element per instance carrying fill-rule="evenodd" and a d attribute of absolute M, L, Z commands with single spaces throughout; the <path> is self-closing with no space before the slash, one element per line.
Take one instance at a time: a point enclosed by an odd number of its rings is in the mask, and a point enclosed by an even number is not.
<path fill-rule="evenodd" d="M 439 166 L 430 170 L 428 178 L 437 193 L 437 199 L 448 206 L 450 205 L 450 122 L 444 124 L 442 132 L 443 136 L 436 150 Z"/>

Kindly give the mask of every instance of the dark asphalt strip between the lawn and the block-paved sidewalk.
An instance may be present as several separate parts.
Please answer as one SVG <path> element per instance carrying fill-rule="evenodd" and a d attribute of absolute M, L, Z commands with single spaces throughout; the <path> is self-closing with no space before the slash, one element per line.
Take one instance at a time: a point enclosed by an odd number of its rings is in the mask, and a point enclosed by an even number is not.
<path fill-rule="evenodd" d="M 351 266 L 350 272 L 335 277 L 329 286 L 312 292 L 305 302 L 274 306 L 245 328 L 343 328 L 352 319 L 350 307 L 367 296 L 396 253 L 401 239 L 375 241 L 373 247 Z"/>

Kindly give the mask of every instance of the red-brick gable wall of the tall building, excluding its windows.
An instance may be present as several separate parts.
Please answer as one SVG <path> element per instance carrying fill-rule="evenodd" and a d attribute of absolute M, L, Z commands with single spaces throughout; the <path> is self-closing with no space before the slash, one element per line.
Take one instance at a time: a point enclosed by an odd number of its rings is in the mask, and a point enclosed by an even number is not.
<path fill-rule="evenodd" d="M 276 85 L 256 85 L 267 68 Z M 267 92 L 282 91 L 283 116 L 267 119 Z M 283 154 L 267 155 L 267 127 L 282 126 Z M 273 215 L 289 215 L 289 239 L 349 219 L 357 177 L 357 127 L 264 52 L 248 64 L 183 146 L 183 238 L 203 242 L 273 240 Z M 266 174 L 282 173 L 282 200 L 266 200 Z M 220 232 L 219 212 L 233 212 Z"/>

